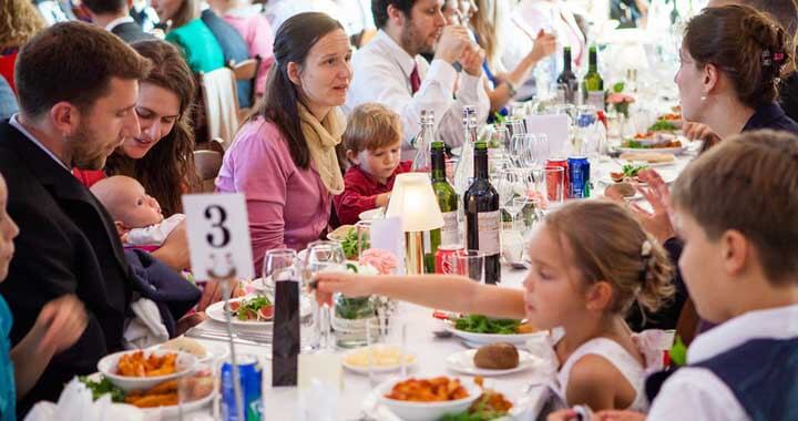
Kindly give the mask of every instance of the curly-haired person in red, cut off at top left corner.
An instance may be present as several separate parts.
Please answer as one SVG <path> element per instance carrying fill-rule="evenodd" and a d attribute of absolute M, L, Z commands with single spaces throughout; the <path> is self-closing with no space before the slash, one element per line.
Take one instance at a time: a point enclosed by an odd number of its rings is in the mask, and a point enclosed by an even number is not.
<path fill-rule="evenodd" d="M 30 0 L 0 1 L 0 75 L 17 92 L 13 66 L 17 52 L 37 32 L 44 29 L 44 19 Z"/>

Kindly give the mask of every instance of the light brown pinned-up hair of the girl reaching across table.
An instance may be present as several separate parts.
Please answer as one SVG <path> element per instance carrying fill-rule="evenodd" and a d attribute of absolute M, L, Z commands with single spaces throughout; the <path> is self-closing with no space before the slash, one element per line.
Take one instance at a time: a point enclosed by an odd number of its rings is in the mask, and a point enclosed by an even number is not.
<path fill-rule="evenodd" d="M 613 286 L 607 311 L 625 315 L 635 300 L 656 311 L 673 296 L 673 266 L 667 253 L 620 205 L 572 202 L 546 216 L 545 229 L 557 242 L 566 242 L 584 281 Z"/>

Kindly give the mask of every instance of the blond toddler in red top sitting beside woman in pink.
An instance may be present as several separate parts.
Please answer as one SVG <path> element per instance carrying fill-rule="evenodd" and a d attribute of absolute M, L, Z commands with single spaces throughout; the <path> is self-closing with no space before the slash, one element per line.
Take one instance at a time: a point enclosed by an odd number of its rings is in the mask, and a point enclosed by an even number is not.
<path fill-rule="evenodd" d="M 411 162 L 399 161 L 401 120 L 383 105 L 366 103 L 352 110 L 341 137 L 350 167 L 344 193 L 332 202 L 338 220 L 355 224 L 360 213 L 388 205 L 393 179 L 409 172 Z"/>

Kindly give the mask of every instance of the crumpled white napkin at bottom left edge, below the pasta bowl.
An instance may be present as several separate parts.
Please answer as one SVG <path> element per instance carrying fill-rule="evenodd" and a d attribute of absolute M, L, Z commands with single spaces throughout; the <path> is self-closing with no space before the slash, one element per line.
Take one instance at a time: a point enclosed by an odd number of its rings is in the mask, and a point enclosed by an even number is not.
<path fill-rule="evenodd" d="M 78 378 L 61 392 L 58 403 L 37 403 L 24 421 L 144 421 L 144 412 L 136 407 L 111 402 L 105 394 L 94 401 L 92 392 Z"/>

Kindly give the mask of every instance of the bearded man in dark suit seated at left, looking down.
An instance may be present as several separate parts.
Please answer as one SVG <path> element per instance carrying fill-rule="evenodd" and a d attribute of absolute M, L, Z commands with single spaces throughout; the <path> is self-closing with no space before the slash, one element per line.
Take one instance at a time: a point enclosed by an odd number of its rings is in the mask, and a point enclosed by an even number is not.
<path fill-rule="evenodd" d="M 72 167 L 100 170 L 125 136 L 139 134 L 139 80 L 150 62 L 111 33 L 86 23 L 58 23 L 37 34 L 17 59 L 20 113 L 0 122 L 0 173 L 8 213 L 20 227 L 8 278 L 16 346 L 42 307 L 75 295 L 88 326 L 55 355 L 18 405 L 58 399 L 75 374 L 96 371 L 122 348 L 134 294 L 113 220 Z"/>

